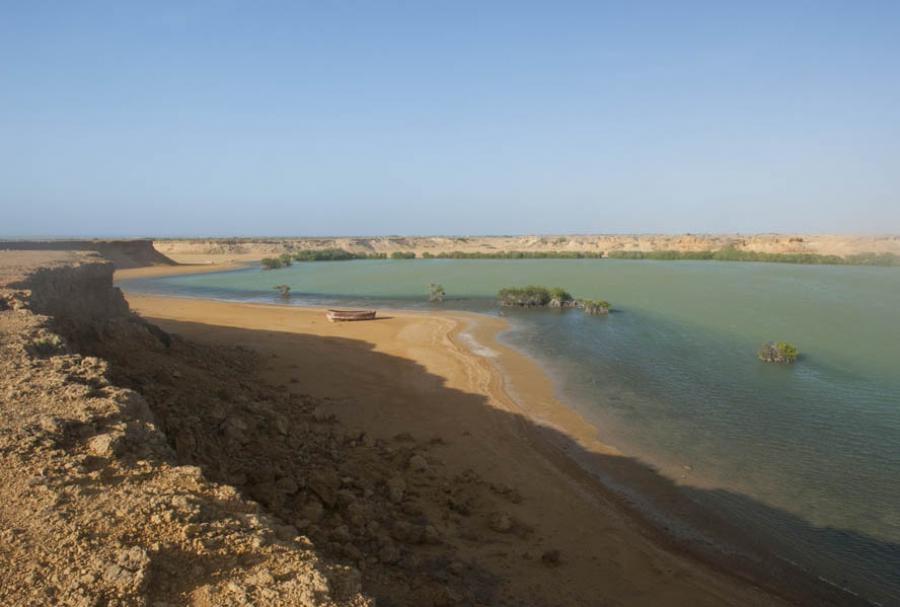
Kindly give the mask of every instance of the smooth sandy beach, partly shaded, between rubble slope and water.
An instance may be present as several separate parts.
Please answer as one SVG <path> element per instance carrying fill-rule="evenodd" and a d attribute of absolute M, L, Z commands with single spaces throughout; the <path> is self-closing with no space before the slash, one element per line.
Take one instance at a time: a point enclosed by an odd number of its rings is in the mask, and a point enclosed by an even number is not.
<path fill-rule="evenodd" d="M 554 399 L 535 363 L 496 340 L 503 319 L 391 311 L 375 322 L 332 324 L 315 308 L 127 298 L 166 331 L 262 353 L 267 381 L 327 399 L 348 426 L 385 440 L 401 433 L 433 439 L 450 474 L 476 470 L 512 489 L 521 500 L 509 504 L 509 516 L 533 532 L 463 539 L 458 548 L 542 602 L 781 604 L 667 542 L 563 453 L 628 466 Z M 562 566 L 534 565 L 548 546 L 560 551 Z"/>

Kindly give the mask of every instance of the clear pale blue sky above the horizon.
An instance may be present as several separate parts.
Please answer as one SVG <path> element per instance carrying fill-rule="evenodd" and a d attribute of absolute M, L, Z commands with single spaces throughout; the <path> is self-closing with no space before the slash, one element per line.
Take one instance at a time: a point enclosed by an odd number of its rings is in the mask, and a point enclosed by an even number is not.
<path fill-rule="evenodd" d="M 900 232 L 900 2 L 0 0 L 0 217 Z"/>

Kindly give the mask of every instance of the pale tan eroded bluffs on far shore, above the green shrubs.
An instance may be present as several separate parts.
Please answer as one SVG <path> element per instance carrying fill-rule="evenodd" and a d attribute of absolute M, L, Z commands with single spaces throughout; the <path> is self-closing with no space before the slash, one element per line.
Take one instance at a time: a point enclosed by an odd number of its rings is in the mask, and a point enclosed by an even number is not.
<path fill-rule="evenodd" d="M 496 253 L 499 251 L 707 251 L 734 247 L 761 253 L 854 255 L 900 254 L 900 236 L 840 234 L 612 234 L 559 236 L 409 236 L 333 238 L 213 238 L 157 240 L 156 248 L 185 263 L 259 259 L 308 249 L 345 249 L 354 253 Z"/>

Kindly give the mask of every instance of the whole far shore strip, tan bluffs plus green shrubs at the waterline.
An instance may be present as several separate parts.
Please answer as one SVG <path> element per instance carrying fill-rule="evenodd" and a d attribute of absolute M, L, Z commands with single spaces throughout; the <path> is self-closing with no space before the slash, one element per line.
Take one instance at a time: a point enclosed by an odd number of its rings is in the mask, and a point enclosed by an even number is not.
<path fill-rule="evenodd" d="M 635 234 L 159 239 L 179 263 L 259 262 L 281 256 L 341 258 L 659 259 L 900 265 L 900 235 Z M 322 255 L 324 259 L 334 256 Z"/>

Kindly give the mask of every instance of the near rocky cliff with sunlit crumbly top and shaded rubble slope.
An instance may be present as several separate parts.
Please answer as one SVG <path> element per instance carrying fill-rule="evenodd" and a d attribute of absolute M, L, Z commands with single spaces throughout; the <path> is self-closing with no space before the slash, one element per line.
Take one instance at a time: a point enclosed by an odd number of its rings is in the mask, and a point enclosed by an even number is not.
<path fill-rule="evenodd" d="M 448 541 L 529 534 L 514 488 L 449 476 L 439 439 L 341 426 L 111 278 L 0 256 L 0 604 L 535 604 Z"/>

